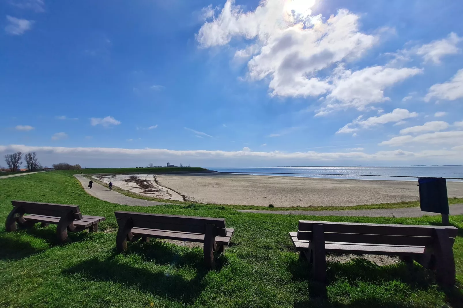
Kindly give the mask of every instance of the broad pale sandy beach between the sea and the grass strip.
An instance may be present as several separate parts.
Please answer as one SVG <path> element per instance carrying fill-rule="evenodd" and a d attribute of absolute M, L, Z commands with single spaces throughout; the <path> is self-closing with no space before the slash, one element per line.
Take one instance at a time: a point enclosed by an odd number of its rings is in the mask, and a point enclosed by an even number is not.
<path fill-rule="evenodd" d="M 416 181 L 317 179 L 231 173 L 156 175 L 159 184 L 188 200 L 275 207 L 353 206 L 414 201 Z M 115 184 L 116 185 L 116 184 Z M 463 197 L 463 182 L 447 182 L 449 197 Z"/>

